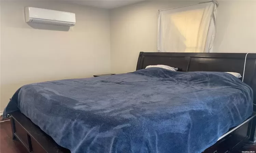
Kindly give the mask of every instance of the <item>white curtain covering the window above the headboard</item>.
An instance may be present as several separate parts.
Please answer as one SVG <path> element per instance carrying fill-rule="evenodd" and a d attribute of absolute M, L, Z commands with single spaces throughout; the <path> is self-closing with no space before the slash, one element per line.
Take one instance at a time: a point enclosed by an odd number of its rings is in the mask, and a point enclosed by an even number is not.
<path fill-rule="evenodd" d="M 212 52 L 215 1 L 159 11 L 158 52 Z"/>

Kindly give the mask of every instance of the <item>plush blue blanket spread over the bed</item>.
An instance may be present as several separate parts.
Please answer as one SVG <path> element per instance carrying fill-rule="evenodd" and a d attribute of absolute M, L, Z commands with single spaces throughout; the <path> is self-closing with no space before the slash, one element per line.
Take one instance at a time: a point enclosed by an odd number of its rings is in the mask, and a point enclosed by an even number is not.
<path fill-rule="evenodd" d="M 199 153 L 252 115 L 252 88 L 223 72 L 148 68 L 25 85 L 20 110 L 72 153 Z"/>

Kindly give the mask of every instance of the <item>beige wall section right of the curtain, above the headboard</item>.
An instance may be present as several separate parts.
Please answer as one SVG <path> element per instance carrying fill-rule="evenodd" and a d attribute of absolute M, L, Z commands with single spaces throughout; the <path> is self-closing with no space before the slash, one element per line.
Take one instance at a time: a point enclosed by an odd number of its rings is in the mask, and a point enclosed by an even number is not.
<path fill-rule="evenodd" d="M 256 1 L 218 1 L 215 52 L 256 52 Z"/>

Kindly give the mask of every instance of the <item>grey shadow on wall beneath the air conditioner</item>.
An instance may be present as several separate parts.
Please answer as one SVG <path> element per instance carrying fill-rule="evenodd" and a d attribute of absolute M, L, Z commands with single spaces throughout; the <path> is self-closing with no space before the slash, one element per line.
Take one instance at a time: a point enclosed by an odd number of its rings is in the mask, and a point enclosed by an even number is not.
<path fill-rule="evenodd" d="M 43 29 L 43 30 L 57 30 L 57 31 L 69 31 L 70 27 L 66 26 L 56 26 L 51 24 L 38 24 L 38 23 L 27 23 L 33 29 Z"/>

